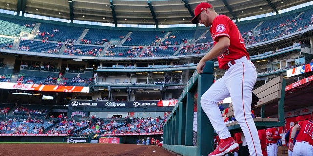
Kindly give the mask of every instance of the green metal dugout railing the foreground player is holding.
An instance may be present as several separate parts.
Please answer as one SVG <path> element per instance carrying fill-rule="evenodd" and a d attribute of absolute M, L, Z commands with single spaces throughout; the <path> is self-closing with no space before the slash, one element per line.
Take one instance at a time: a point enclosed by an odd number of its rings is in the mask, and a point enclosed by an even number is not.
<path fill-rule="evenodd" d="M 204 156 L 213 151 L 214 130 L 200 105 L 203 93 L 213 84 L 214 62 L 203 73 L 195 71 L 164 125 L 163 148 L 183 156 Z M 197 94 L 196 94 L 197 93 Z M 194 101 L 197 95 L 197 141 L 193 146 Z"/>

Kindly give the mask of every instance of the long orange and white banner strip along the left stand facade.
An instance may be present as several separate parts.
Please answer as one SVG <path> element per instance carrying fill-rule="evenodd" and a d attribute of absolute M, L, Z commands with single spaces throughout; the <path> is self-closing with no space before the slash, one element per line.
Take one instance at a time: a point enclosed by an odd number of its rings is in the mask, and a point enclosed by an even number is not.
<path fill-rule="evenodd" d="M 0 82 L 1 89 L 19 89 L 31 91 L 49 91 L 49 92 L 82 92 L 88 93 L 89 87 L 66 86 L 66 85 L 44 85 L 44 84 L 24 84 Z"/>

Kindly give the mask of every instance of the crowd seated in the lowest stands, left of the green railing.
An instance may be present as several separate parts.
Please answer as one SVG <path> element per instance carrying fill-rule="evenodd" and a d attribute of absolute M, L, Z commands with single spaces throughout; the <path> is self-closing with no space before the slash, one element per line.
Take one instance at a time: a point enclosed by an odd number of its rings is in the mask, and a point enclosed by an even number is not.
<path fill-rule="evenodd" d="M 6 110 L 6 113 L 2 113 Z M 4 112 L 4 111 L 3 111 Z M 9 110 L 1 109 L 1 115 L 6 115 Z M 17 106 L 15 111 L 25 112 L 25 119 L 19 117 L 6 117 L 0 123 L 0 133 L 10 134 L 68 134 L 68 135 L 90 135 L 91 133 L 101 134 L 118 134 L 118 133 L 153 133 L 163 132 L 163 123 L 166 117 L 147 117 L 134 118 L 129 120 L 129 117 L 111 117 L 109 122 L 104 122 L 103 119 L 86 117 L 84 119 L 68 119 L 66 115 L 60 114 L 58 117 L 49 116 L 51 120 L 43 120 L 31 115 L 47 113 L 47 110 L 29 110 L 24 106 Z M 124 122 L 120 122 L 124 120 Z M 118 121 L 118 122 L 117 122 Z M 34 123 L 29 125 L 28 123 Z M 36 124 L 38 123 L 38 125 Z M 49 129 L 44 125 L 49 125 Z M 85 130 L 84 130 L 85 129 Z"/>

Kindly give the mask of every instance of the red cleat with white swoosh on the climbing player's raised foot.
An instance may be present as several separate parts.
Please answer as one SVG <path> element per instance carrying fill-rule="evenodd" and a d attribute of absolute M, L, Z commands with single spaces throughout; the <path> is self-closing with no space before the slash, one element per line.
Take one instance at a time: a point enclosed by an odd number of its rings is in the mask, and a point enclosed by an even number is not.
<path fill-rule="evenodd" d="M 238 143 L 232 138 L 221 139 L 219 146 L 210 153 L 208 156 L 224 156 L 227 153 L 233 152 L 239 149 Z"/>

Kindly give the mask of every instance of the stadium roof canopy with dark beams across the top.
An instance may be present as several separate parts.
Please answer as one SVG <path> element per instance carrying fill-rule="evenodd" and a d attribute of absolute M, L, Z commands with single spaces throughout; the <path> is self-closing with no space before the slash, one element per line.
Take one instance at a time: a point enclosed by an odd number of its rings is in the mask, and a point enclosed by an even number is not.
<path fill-rule="evenodd" d="M 68 20 L 167 25 L 190 24 L 200 2 L 209 2 L 217 13 L 236 20 L 309 1 L 312 0 L 0 0 L 0 9 Z"/>

